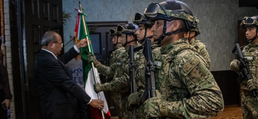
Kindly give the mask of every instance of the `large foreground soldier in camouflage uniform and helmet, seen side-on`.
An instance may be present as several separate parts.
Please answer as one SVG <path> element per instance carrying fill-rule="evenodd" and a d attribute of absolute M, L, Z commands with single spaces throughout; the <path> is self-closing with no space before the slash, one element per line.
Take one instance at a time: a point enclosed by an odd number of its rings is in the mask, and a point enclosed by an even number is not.
<path fill-rule="evenodd" d="M 219 86 L 200 51 L 184 38 L 199 22 L 191 9 L 181 1 L 150 2 L 144 15 L 155 21 L 154 41 L 162 46 L 154 56 L 157 96 L 144 102 L 146 118 L 210 118 L 222 113 Z"/>

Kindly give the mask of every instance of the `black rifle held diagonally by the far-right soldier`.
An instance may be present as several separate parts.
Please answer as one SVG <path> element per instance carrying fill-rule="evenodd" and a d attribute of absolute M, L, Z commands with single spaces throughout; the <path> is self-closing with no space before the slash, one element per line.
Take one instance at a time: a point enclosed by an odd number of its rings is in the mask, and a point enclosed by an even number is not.
<path fill-rule="evenodd" d="M 248 61 L 247 61 L 246 58 L 244 58 L 244 55 L 243 55 L 243 53 L 241 51 L 241 48 L 240 48 L 240 45 L 238 43 L 235 45 L 235 48 L 233 49 L 232 53 L 240 58 L 240 64 L 238 64 L 238 67 L 240 68 L 240 74 L 237 78 L 238 84 L 243 82 L 244 78 L 247 78 L 248 80 L 253 79 L 253 76 L 252 76 L 251 71 L 249 69 Z M 258 101 L 258 97 L 257 97 L 258 90 L 255 89 L 255 90 L 252 90 L 252 92 L 253 92 L 254 96 L 256 96 L 256 99 Z"/>

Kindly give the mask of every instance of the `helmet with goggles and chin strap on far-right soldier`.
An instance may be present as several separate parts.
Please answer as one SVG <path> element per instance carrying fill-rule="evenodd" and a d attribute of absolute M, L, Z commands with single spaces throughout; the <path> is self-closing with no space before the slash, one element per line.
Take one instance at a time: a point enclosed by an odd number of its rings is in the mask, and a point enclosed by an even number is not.
<path fill-rule="evenodd" d="M 256 35 L 252 39 L 247 40 L 248 42 L 253 42 L 257 38 L 258 16 L 244 17 L 242 19 L 242 22 L 241 22 L 240 26 L 243 27 L 243 28 L 256 27 Z"/>

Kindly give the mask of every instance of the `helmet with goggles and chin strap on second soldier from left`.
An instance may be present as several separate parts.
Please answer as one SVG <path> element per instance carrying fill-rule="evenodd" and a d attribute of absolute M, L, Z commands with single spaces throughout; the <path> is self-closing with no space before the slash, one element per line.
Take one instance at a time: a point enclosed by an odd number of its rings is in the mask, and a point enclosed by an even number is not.
<path fill-rule="evenodd" d="M 133 41 L 136 41 L 136 30 L 138 29 L 138 25 L 136 24 L 132 24 L 132 23 L 129 23 L 129 24 L 124 24 L 123 26 L 121 25 L 117 25 L 117 29 L 116 31 L 118 33 L 121 33 L 121 34 L 125 34 L 125 44 L 122 44 L 122 46 L 126 46 L 128 43 L 131 43 Z M 135 39 L 134 40 L 131 40 L 130 42 L 127 42 L 127 35 L 132 35 Z"/>

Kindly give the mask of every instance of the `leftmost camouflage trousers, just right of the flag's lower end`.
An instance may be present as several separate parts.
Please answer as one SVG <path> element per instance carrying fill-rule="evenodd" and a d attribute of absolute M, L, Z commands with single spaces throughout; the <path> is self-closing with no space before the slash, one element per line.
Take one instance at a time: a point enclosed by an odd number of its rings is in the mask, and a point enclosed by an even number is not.
<path fill-rule="evenodd" d="M 110 91 L 110 93 L 112 94 L 111 99 L 114 102 L 114 107 L 117 110 L 117 116 L 119 119 L 124 119 L 124 115 L 122 110 L 122 97 L 118 92 L 113 92 Z"/>

